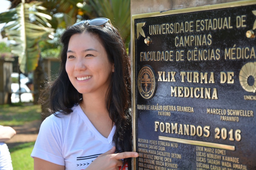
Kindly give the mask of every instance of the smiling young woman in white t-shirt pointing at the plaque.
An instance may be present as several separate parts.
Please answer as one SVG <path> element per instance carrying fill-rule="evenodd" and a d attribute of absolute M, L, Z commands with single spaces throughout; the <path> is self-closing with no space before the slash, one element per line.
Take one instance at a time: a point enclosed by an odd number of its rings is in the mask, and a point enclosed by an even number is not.
<path fill-rule="evenodd" d="M 53 115 L 31 153 L 35 170 L 131 169 L 138 157 L 130 152 L 129 57 L 108 21 L 80 21 L 62 34 L 60 75 L 49 90 Z"/>

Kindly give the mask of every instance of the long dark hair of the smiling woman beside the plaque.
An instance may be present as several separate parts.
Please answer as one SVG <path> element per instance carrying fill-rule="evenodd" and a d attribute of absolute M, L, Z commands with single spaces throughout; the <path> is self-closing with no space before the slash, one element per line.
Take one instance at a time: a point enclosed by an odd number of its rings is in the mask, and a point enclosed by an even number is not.
<path fill-rule="evenodd" d="M 48 101 L 41 101 L 48 103 L 47 107 L 54 115 L 56 115 L 56 112 L 61 112 L 65 115 L 70 114 L 72 113 L 71 108 L 82 101 L 82 94 L 71 84 L 65 65 L 70 37 L 74 34 L 85 32 L 92 33 L 99 38 L 107 52 L 108 60 L 110 63 L 114 63 L 115 72 L 112 73 L 111 83 L 106 95 L 106 108 L 109 117 L 116 125 L 113 143 L 121 152 L 130 152 L 132 151 L 130 63 L 124 41 L 111 23 L 108 22 L 103 26 L 92 26 L 85 21 L 70 26 L 62 34 L 61 43 L 63 49 L 61 51 L 59 77 L 48 83 L 47 90 L 42 93 L 41 99 Z M 48 93 L 46 93 L 47 91 Z M 49 97 L 45 98 L 46 94 Z M 127 162 L 128 168 L 131 169 L 131 158 L 124 159 L 124 162 Z"/>

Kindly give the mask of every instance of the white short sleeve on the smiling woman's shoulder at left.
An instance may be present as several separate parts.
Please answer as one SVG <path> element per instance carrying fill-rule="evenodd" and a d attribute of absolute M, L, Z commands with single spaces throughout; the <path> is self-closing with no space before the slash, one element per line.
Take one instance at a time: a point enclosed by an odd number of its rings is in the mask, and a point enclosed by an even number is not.
<path fill-rule="evenodd" d="M 62 137 L 59 127 L 52 116 L 47 117 L 41 124 L 31 157 L 44 159 L 58 165 L 65 165 L 62 156 Z"/>

